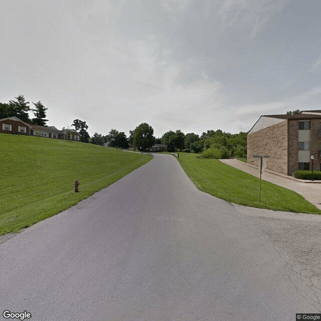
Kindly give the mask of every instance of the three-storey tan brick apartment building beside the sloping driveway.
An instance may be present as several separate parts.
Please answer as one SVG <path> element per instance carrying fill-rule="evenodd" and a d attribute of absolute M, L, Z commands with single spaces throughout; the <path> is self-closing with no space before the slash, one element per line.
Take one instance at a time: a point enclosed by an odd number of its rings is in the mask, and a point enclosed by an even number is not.
<path fill-rule="evenodd" d="M 262 115 L 247 134 L 247 162 L 269 154 L 265 168 L 285 175 L 297 170 L 321 170 L 321 110 L 293 115 Z"/>

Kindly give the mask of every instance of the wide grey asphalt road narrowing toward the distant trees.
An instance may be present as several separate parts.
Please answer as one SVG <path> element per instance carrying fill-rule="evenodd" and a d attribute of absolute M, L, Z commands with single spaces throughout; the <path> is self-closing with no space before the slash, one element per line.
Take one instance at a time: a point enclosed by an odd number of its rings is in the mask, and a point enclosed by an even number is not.
<path fill-rule="evenodd" d="M 320 244 L 321 217 L 217 199 L 158 154 L 0 245 L 1 313 L 294 321 L 321 312 Z"/>

